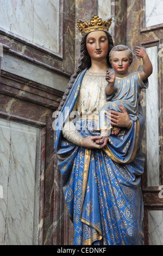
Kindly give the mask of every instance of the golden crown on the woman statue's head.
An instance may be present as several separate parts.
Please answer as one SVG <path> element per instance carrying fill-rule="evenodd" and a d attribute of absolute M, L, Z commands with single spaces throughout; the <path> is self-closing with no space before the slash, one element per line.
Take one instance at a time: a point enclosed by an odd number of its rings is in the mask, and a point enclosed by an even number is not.
<path fill-rule="evenodd" d="M 99 16 L 94 15 L 92 19 L 87 21 L 86 23 L 84 21 L 78 20 L 78 29 L 82 35 L 84 35 L 87 32 L 92 32 L 92 31 L 97 31 L 97 30 L 104 30 L 108 31 L 111 25 L 112 18 L 110 20 L 102 20 L 101 18 L 99 19 Z"/>

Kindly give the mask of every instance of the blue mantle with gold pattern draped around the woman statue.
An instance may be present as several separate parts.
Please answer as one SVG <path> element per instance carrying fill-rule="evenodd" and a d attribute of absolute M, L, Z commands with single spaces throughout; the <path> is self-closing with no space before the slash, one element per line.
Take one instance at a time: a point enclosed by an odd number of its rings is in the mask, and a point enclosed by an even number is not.
<path fill-rule="evenodd" d="M 143 202 L 140 187 L 144 158 L 140 142 L 144 118 L 131 128 L 110 135 L 104 149 L 87 149 L 62 136 L 62 117 L 70 115 L 76 102 L 84 70 L 71 89 L 55 130 L 55 153 L 62 188 L 73 221 L 74 245 L 143 245 Z M 64 120 L 64 121 L 65 121 Z M 99 135 L 95 120 L 78 120 L 82 137 Z"/>

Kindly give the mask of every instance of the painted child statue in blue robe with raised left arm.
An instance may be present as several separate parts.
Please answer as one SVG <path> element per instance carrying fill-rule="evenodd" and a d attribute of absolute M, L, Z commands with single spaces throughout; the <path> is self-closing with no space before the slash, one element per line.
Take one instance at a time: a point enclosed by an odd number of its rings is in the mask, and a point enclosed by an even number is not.
<path fill-rule="evenodd" d="M 118 106 L 122 104 L 131 119 L 136 121 L 139 118 L 139 95 L 142 88 L 148 88 L 147 78 L 152 74 L 153 67 L 145 48 L 136 46 L 135 51 L 136 56 L 143 60 L 143 70 L 134 73 L 129 72 L 133 53 L 126 45 L 116 45 L 110 51 L 109 60 L 114 71 L 106 72 L 108 84 L 105 93 L 108 102 L 99 111 L 99 130 L 103 138 L 108 136 L 110 129 L 114 134 L 120 131 L 109 125 L 105 117 L 106 110 L 119 111 Z"/>

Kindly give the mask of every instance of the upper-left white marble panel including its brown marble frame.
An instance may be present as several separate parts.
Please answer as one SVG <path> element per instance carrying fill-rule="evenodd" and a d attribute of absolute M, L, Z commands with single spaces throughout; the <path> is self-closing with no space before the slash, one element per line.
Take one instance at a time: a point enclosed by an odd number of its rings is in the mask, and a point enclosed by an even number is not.
<path fill-rule="evenodd" d="M 0 14 L 2 69 L 64 92 L 74 70 L 74 1 L 1 0 Z"/>

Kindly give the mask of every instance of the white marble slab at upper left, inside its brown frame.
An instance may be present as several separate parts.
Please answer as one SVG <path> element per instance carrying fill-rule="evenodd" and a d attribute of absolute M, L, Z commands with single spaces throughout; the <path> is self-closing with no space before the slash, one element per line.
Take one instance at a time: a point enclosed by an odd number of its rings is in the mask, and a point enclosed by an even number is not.
<path fill-rule="evenodd" d="M 1 0 L 0 27 L 59 52 L 59 0 Z"/>

